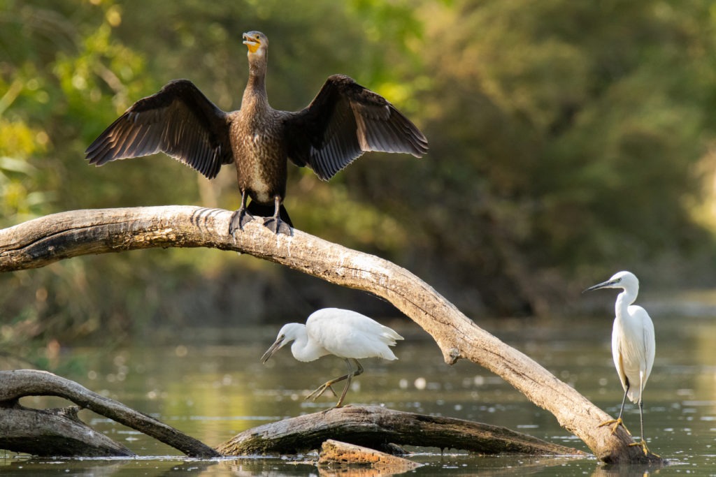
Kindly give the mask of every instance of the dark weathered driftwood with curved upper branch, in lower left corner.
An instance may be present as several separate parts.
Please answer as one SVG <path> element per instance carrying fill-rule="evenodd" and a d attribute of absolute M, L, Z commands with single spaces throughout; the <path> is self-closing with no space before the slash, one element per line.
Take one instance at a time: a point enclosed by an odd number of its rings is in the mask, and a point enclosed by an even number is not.
<path fill-rule="evenodd" d="M 141 431 L 190 457 L 220 455 L 213 448 L 155 418 L 93 393 L 74 381 L 36 370 L 0 371 L 0 448 L 38 456 L 134 455 L 129 449 L 84 425 L 77 418 L 76 410 L 65 409 L 58 413 L 19 405 L 17 400 L 29 395 L 52 395 L 71 400 L 81 408 Z M 60 427 L 52 426 L 50 417 L 52 423 Z"/>

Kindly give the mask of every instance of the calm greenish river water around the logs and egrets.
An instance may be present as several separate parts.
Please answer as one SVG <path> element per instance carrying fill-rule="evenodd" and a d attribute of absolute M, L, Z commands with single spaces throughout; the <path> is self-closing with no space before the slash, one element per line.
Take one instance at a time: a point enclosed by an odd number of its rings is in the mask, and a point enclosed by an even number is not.
<path fill-rule="evenodd" d="M 700 301 L 699 301 L 700 300 Z M 410 448 L 425 466 L 416 475 L 670 475 L 716 476 L 716 308 L 702 297 L 654 300 L 657 357 L 644 397 L 649 448 L 669 460 L 662 469 L 608 468 L 595 458 L 473 456 L 460 451 Z M 684 311 L 686 310 L 686 311 Z M 506 426 L 547 441 L 588 451 L 553 416 L 510 385 L 468 362 L 445 365 L 430 336 L 405 319 L 382 320 L 405 336 L 400 360 L 362 360 L 365 373 L 347 403 L 381 404 L 416 413 L 445 415 Z M 478 325 L 515 346 L 573 385 L 611 415 L 619 413 L 621 386 L 611 362 L 611 319 L 484 320 Z M 303 397 L 344 373 L 327 356 L 299 363 L 288 348 L 261 365 L 277 325 L 234 330 L 146 330 L 132 343 L 103 348 L 63 348 L 62 375 L 98 393 L 159 418 L 210 446 L 263 423 L 328 408 L 332 396 Z M 56 398 L 24 398 L 32 407 L 67 405 Z M 130 460 L 32 458 L 0 451 L 0 473 L 29 475 L 206 476 L 319 475 L 316 454 L 200 461 L 91 411 L 80 418 L 135 451 Z M 625 422 L 639 433 L 639 411 L 629 405 Z M 355 474 L 357 475 L 357 474 Z M 360 473 L 360 475 L 375 475 Z"/>

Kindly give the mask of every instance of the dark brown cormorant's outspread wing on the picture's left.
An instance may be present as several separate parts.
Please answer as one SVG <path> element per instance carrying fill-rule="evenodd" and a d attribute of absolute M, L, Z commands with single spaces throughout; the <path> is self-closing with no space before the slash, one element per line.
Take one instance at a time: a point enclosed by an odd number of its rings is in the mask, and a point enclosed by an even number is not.
<path fill-rule="evenodd" d="M 101 166 L 164 152 L 211 179 L 233 160 L 229 122 L 192 82 L 177 79 L 133 104 L 85 154 L 89 164 Z"/>

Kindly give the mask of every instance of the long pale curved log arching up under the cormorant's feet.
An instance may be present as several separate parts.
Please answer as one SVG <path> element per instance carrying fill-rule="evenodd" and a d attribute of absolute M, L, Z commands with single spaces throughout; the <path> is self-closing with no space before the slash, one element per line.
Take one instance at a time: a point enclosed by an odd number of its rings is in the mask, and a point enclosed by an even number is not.
<path fill-rule="evenodd" d="M 79 255 L 150 247 L 213 247 L 271 260 L 338 285 L 389 300 L 432 335 L 445 363 L 470 360 L 511 383 L 551 412 L 607 463 L 662 463 L 644 456 L 610 418 L 574 388 L 481 329 L 418 277 L 397 265 L 299 230 L 275 235 L 257 220 L 228 235 L 228 210 L 167 206 L 62 212 L 0 230 L 0 271 L 42 267 Z"/>

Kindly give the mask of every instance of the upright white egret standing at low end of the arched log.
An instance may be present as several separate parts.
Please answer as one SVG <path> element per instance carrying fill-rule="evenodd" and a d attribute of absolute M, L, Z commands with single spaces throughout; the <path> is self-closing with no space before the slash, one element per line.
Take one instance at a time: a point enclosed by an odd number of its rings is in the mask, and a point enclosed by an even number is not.
<path fill-rule="evenodd" d="M 627 426 L 621 421 L 624 413 L 624 403 L 627 396 L 632 403 L 639 403 L 639 422 L 642 425 L 642 442 L 633 443 L 632 446 L 642 446 L 644 454 L 649 453 L 647 441 L 644 439 L 644 386 L 647 384 L 649 374 L 654 365 L 654 323 L 644 308 L 632 305 L 639 293 L 639 280 L 632 272 L 618 272 L 606 282 L 589 287 L 586 291 L 599 290 L 599 288 L 621 288 L 624 291 L 616 297 L 614 311 L 614 328 L 611 331 L 611 356 L 614 358 L 616 373 L 619 373 L 621 387 L 624 388 L 624 398 L 621 400 L 619 418 L 602 423 L 601 426 L 614 424 L 611 433 L 621 425 L 629 433 Z M 629 433 L 631 435 L 631 433 Z"/>

